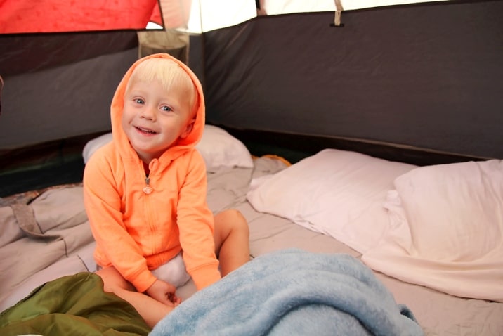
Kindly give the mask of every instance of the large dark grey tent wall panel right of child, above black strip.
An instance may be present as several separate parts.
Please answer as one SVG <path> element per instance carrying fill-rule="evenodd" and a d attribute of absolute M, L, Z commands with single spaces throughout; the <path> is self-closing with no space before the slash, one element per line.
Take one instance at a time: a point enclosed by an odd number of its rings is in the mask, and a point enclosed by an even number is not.
<path fill-rule="evenodd" d="M 263 16 L 204 34 L 207 119 L 503 157 L 503 1 Z"/>

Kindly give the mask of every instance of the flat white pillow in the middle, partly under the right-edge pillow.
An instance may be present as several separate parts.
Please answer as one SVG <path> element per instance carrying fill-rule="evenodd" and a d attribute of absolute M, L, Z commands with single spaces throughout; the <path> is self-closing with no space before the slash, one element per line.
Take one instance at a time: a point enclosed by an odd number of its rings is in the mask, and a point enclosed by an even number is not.
<path fill-rule="evenodd" d="M 259 212 L 285 217 L 362 253 L 388 226 L 382 203 L 393 180 L 414 167 L 325 149 L 277 174 L 252 180 L 247 199 Z"/>

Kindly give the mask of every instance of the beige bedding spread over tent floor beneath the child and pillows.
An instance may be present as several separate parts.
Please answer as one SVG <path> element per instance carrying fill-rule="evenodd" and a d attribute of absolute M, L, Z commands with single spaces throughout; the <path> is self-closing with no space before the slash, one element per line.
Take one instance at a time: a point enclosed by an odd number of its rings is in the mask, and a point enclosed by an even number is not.
<path fill-rule="evenodd" d="M 281 160 L 262 157 L 254 160 L 253 169 L 221 169 L 209 173 L 209 206 L 214 212 L 237 208 L 244 214 L 249 222 L 250 252 L 254 257 L 299 247 L 311 252 L 347 253 L 360 258 L 360 253 L 328 235 L 251 207 L 246 194 L 252 177 L 273 174 L 285 167 Z M 24 196 L 4 199 L 0 203 L 0 311 L 41 283 L 96 269 L 89 223 L 82 215 L 81 186 L 63 186 Z M 17 210 L 22 210 L 27 202 L 30 204 L 24 209 L 26 214 L 31 211 L 32 217 L 16 217 L 13 209 L 16 207 L 10 205 L 21 204 Z M 30 224 L 30 218 L 37 226 L 21 228 L 19 221 Z M 393 292 L 396 302 L 412 310 L 426 335 L 503 335 L 501 303 L 455 297 L 376 273 Z M 194 290 L 189 282 L 178 289 L 178 295 L 186 299 Z"/>

